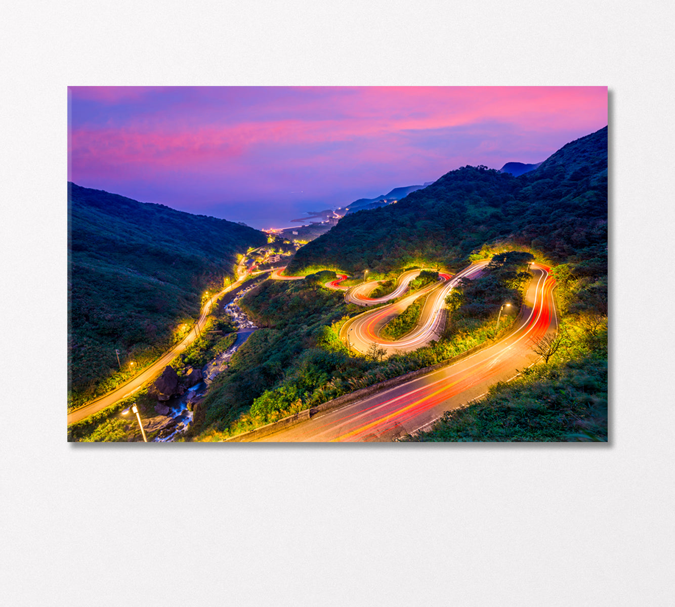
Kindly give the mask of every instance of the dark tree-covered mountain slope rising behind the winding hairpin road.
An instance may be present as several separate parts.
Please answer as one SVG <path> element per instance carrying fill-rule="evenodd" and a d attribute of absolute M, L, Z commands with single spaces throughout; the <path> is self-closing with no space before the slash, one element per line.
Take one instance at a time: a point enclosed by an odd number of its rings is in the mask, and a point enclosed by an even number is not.
<path fill-rule="evenodd" d="M 398 204 L 345 216 L 300 249 L 288 272 L 321 264 L 350 272 L 388 272 L 421 262 L 452 265 L 483 243 L 506 237 L 556 260 L 599 255 L 602 264 L 607 127 L 518 177 L 462 167 Z"/>

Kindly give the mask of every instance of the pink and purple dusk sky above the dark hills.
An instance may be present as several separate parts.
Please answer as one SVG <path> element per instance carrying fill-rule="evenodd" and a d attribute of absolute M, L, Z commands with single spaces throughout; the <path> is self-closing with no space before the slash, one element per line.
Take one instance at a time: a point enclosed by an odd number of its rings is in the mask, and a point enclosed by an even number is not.
<path fill-rule="evenodd" d="M 68 179 L 288 227 L 312 210 L 537 163 L 607 124 L 607 87 L 69 87 Z"/>

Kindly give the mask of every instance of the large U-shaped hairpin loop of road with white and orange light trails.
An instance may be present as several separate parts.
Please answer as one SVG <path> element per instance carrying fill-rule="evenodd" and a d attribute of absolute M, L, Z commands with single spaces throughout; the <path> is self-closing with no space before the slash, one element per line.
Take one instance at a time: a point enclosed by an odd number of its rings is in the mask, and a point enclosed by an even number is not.
<path fill-rule="evenodd" d="M 464 268 L 464 270 L 455 274 L 454 277 L 441 272 L 439 274 L 441 280 L 438 283 L 416 291 L 396 303 L 391 303 L 389 306 L 383 306 L 382 308 L 360 314 L 360 316 L 348 320 L 340 330 L 340 339 L 348 347 L 360 353 L 367 352 L 369 347 L 375 343 L 387 351 L 387 356 L 394 353 L 410 352 L 423 345 L 427 345 L 433 339 L 439 339 L 443 332 L 443 322 L 445 320 L 445 297 L 448 297 L 448 294 L 460 279 L 476 277 L 485 268 L 487 263 L 488 260 L 475 262 L 468 266 L 468 268 Z M 419 273 L 419 270 L 413 270 L 413 272 Z M 409 272 L 406 272 L 406 274 L 409 274 Z M 407 286 L 410 282 L 410 277 L 406 277 L 405 274 L 402 274 L 401 277 Z M 398 291 L 398 288 L 396 290 Z M 350 295 L 353 295 L 353 293 L 354 291 Z M 420 313 L 417 326 L 410 333 L 396 341 L 379 337 L 380 330 L 387 322 L 404 312 L 415 299 L 422 295 L 428 295 L 427 301 L 425 301 Z M 388 301 L 391 299 L 391 295 L 381 299 Z"/>

